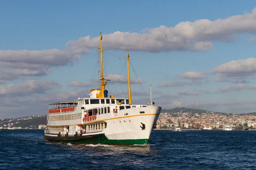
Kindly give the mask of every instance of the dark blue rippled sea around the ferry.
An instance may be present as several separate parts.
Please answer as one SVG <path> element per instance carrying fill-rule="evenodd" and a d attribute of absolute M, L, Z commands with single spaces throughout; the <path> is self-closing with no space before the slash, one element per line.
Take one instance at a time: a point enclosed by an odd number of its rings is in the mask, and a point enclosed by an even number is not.
<path fill-rule="evenodd" d="M 154 130 L 148 147 L 50 143 L 43 135 L 0 130 L 0 169 L 256 169 L 256 131 Z"/>

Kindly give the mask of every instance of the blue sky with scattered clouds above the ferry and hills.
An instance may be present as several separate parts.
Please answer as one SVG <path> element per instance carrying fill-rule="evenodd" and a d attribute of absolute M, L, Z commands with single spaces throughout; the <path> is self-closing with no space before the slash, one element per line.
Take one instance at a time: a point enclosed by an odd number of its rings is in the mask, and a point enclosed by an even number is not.
<path fill-rule="evenodd" d="M 133 104 L 256 111 L 256 3 L 203 0 L 3 0 L 0 118 L 99 88 L 99 33 L 109 95 Z M 146 95 L 145 95 L 146 94 Z M 195 106 L 194 106 L 195 103 Z"/>

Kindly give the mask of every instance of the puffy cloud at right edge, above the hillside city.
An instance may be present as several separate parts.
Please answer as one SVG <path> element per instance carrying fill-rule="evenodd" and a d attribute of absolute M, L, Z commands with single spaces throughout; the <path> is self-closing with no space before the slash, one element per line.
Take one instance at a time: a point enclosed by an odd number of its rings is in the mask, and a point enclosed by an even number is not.
<path fill-rule="evenodd" d="M 250 79 L 256 73 L 256 58 L 233 60 L 209 72 L 218 75 L 215 82 L 248 83 L 245 79 Z"/>

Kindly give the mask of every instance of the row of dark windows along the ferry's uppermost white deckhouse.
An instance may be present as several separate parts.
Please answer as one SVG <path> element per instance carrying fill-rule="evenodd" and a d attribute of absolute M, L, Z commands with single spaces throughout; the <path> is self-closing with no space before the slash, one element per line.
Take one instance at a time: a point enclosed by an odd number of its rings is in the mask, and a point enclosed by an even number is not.
<path fill-rule="evenodd" d="M 127 104 L 129 103 L 128 100 L 125 99 L 83 99 L 79 100 L 79 105 L 89 105 L 89 104 L 116 104 L 122 103 Z"/>

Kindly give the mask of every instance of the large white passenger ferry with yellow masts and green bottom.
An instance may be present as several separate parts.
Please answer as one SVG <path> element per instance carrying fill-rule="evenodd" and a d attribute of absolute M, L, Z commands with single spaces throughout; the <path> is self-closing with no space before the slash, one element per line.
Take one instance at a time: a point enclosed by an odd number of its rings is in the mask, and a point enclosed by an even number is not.
<path fill-rule="evenodd" d="M 71 144 L 146 144 L 156 128 L 161 107 L 131 103 L 129 54 L 127 50 L 128 99 L 108 97 L 108 79 L 103 75 L 102 34 L 100 33 L 101 85 L 88 97 L 49 104 L 44 139 Z"/>

